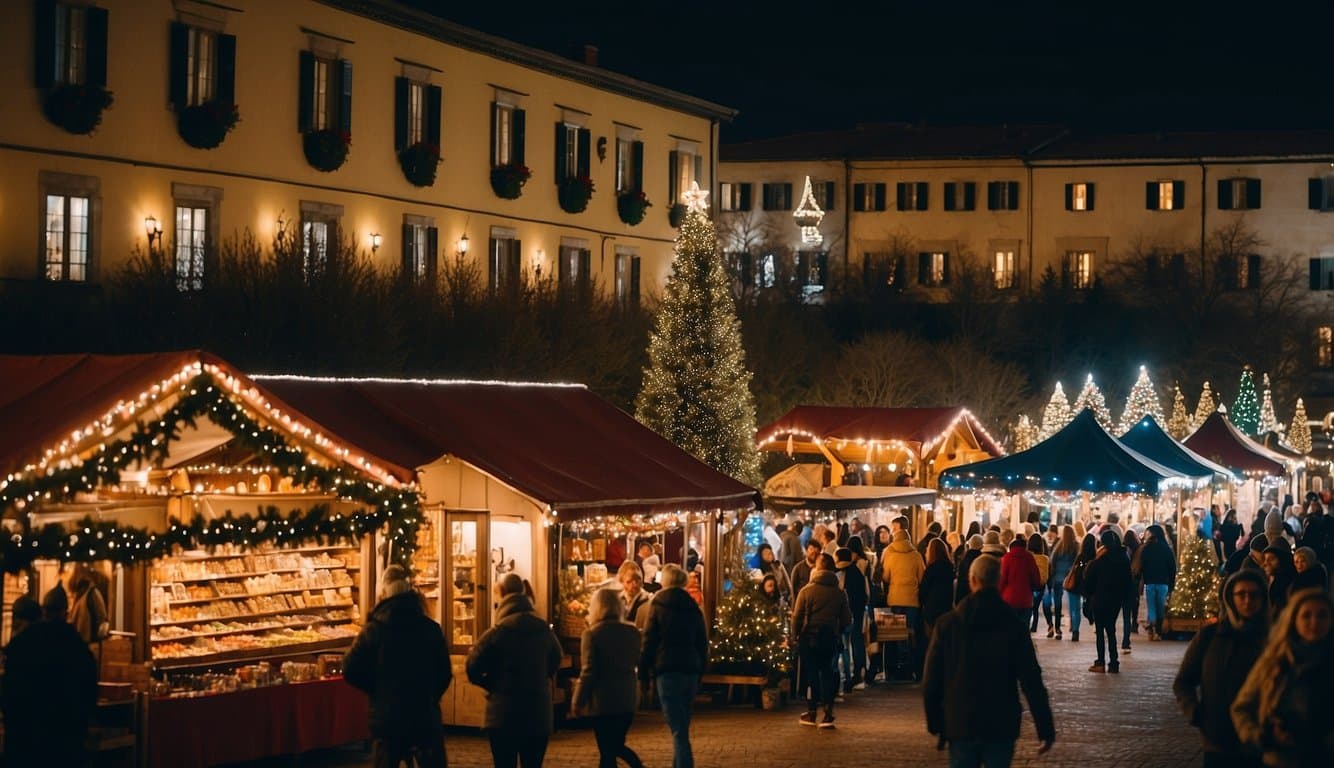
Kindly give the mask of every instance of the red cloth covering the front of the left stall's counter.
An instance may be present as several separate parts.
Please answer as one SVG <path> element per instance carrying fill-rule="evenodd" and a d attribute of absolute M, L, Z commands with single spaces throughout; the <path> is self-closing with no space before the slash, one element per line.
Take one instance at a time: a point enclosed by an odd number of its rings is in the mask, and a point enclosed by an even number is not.
<path fill-rule="evenodd" d="M 342 677 L 148 704 L 148 765 L 193 768 L 368 739 L 366 693 Z"/>

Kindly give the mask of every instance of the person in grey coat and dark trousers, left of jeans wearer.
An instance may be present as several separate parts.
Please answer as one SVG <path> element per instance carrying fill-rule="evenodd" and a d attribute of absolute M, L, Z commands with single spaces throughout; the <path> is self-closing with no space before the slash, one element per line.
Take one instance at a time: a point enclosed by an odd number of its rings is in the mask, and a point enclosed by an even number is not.
<path fill-rule="evenodd" d="M 599 589 L 588 609 L 588 628 L 579 643 L 583 668 L 575 684 L 574 713 L 592 717 L 598 740 L 598 768 L 616 768 L 622 759 L 631 768 L 643 763 L 626 747 L 626 733 L 635 719 L 639 687 L 639 629 L 622 616 L 620 596 L 615 589 Z"/>

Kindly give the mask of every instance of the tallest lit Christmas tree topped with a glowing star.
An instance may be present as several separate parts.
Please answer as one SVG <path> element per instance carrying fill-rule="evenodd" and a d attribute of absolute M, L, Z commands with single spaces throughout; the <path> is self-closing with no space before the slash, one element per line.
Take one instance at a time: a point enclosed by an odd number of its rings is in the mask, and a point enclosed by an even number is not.
<path fill-rule="evenodd" d="M 704 215 L 708 192 L 692 187 L 676 257 L 648 339 L 648 368 L 635 419 L 710 467 L 760 484 L 755 399 L 740 321 Z"/>

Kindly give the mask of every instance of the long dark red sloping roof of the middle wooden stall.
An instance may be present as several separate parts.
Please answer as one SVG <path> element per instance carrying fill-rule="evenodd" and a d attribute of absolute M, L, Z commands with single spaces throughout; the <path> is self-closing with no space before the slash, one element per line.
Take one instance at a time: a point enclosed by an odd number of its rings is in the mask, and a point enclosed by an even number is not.
<path fill-rule="evenodd" d="M 255 380 L 391 467 L 415 475 L 458 456 L 563 519 L 750 507 L 756 497 L 582 384 Z"/>

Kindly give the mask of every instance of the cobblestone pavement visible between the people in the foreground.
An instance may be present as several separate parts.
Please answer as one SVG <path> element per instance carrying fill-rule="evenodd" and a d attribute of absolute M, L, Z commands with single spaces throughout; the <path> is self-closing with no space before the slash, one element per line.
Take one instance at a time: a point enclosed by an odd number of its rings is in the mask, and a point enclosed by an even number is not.
<path fill-rule="evenodd" d="M 1199 765 L 1197 732 L 1185 724 L 1171 696 L 1185 641 L 1150 643 L 1134 635 L 1134 651 L 1122 656 L 1121 675 L 1087 671 L 1095 656 L 1093 632 L 1078 644 L 1034 636 L 1043 677 L 1057 719 L 1057 743 L 1037 755 L 1033 721 L 1025 715 L 1015 752 L 1017 767 L 1079 765 L 1089 768 L 1159 768 Z M 816 731 L 796 723 L 802 708 L 788 704 L 764 712 L 742 704 L 700 704 L 691 728 L 695 763 L 700 768 L 738 765 L 810 768 L 851 765 L 946 765 L 935 751 L 915 684 L 878 685 L 855 691 L 835 715 L 838 728 Z M 490 767 L 486 739 L 476 731 L 451 731 L 446 737 L 451 768 Z M 671 765 L 671 737 L 658 712 L 642 712 L 628 744 L 648 768 Z M 591 729 L 562 729 L 552 739 L 547 765 L 596 765 Z M 370 765 L 355 749 L 312 753 L 299 761 L 263 761 L 264 768 L 360 768 Z"/>

